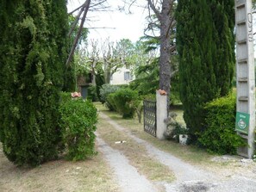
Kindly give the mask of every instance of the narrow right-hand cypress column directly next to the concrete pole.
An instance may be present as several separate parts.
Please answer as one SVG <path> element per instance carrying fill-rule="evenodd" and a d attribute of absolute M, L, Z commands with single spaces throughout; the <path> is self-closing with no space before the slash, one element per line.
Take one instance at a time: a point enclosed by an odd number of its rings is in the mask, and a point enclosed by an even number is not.
<path fill-rule="evenodd" d="M 215 25 L 215 76 L 220 96 L 227 96 L 234 77 L 234 1 L 211 0 L 211 13 Z"/>

